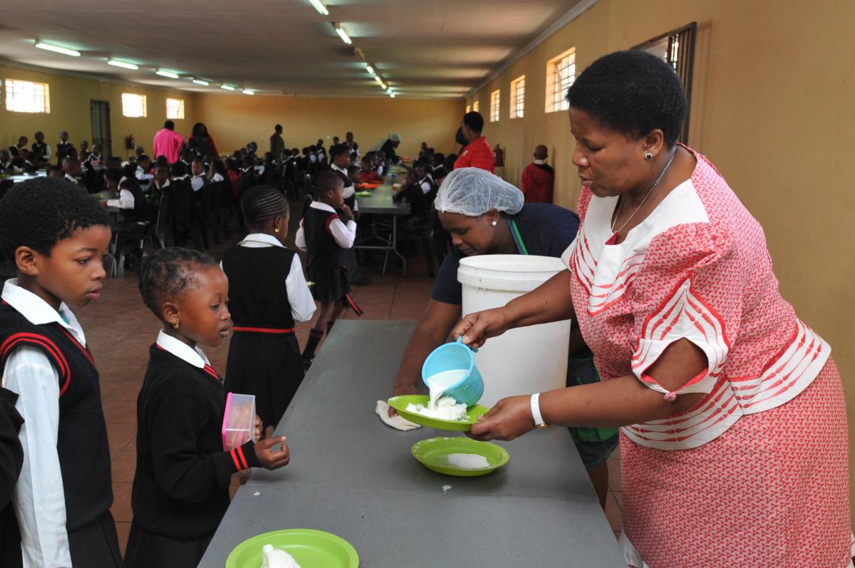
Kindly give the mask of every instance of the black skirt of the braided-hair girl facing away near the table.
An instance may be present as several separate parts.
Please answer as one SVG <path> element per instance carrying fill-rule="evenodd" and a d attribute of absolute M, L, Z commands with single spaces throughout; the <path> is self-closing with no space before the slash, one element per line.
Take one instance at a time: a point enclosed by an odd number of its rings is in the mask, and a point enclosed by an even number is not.
<path fill-rule="evenodd" d="M 276 426 L 303 382 L 294 334 L 235 332 L 228 347 L 226 390 L 254 394 L 264 428 Z"/>

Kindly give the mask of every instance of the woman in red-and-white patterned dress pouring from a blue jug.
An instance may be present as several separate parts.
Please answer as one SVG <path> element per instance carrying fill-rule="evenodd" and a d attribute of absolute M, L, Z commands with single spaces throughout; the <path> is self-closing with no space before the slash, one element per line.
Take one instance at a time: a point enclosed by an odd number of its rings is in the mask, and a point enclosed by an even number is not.
<path fill-rule="evenodd" d="M 568 270 L 455 334 L 478 346 L 575 317 L 603 382 L 503 399 L 471 435 L 622 426 L 630 566 L 852 565 L 831 348 L 781 298 L 757 220 L 676 144 L 687 104 L 673 70 L 614 53 L 568 99 L 583 186 Z"/>

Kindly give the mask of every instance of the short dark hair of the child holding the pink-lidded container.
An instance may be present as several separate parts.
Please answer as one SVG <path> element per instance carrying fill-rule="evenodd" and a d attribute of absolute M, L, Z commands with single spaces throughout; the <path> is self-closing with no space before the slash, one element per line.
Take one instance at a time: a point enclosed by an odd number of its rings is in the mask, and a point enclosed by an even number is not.
<path fill-rule="evenodd" d="M 139 267 L 139 293 L 149 310 L 162 320 L 163 300 L 179 299 L 192 291 L 197 286 L 194 273 L 218 266 L 214 258 L 204 252 L 180 246 L 159 249 L 146 257 Z"/>

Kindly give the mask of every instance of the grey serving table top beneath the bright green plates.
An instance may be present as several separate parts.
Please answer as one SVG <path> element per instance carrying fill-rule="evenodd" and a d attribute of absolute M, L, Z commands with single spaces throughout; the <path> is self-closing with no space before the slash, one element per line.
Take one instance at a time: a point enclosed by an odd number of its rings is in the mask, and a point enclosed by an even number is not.
<path fill-rule="evenodd" d="M 339 535 L 366 568 L 626 566 L 567 429 L 497 442 L 507 465 L 452 477 L 423 467 L 410 447 L 457 433 L 380 422 L 374 405 L 391 393 L 414 327 L 336 323 L 276 429 L 292 463 L 253 472 L 200 567 L 221 568 L 241 541 L 284 528 Z"/>

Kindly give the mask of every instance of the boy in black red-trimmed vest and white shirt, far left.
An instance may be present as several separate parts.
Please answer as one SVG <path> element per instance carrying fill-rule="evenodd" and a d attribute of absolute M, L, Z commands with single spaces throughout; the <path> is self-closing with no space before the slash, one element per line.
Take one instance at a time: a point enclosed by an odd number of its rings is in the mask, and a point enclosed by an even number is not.
<path fill-rule="evenodd" d="M 109 241 L 106 211 L 62 180 L 27 180 L 0 201 L 0 247 L 17 269 L 0 360 L 25 420 L 14 507 L 27 566 L 122 565 L 98 371 L 68 307 L 100 297 Z"/>

